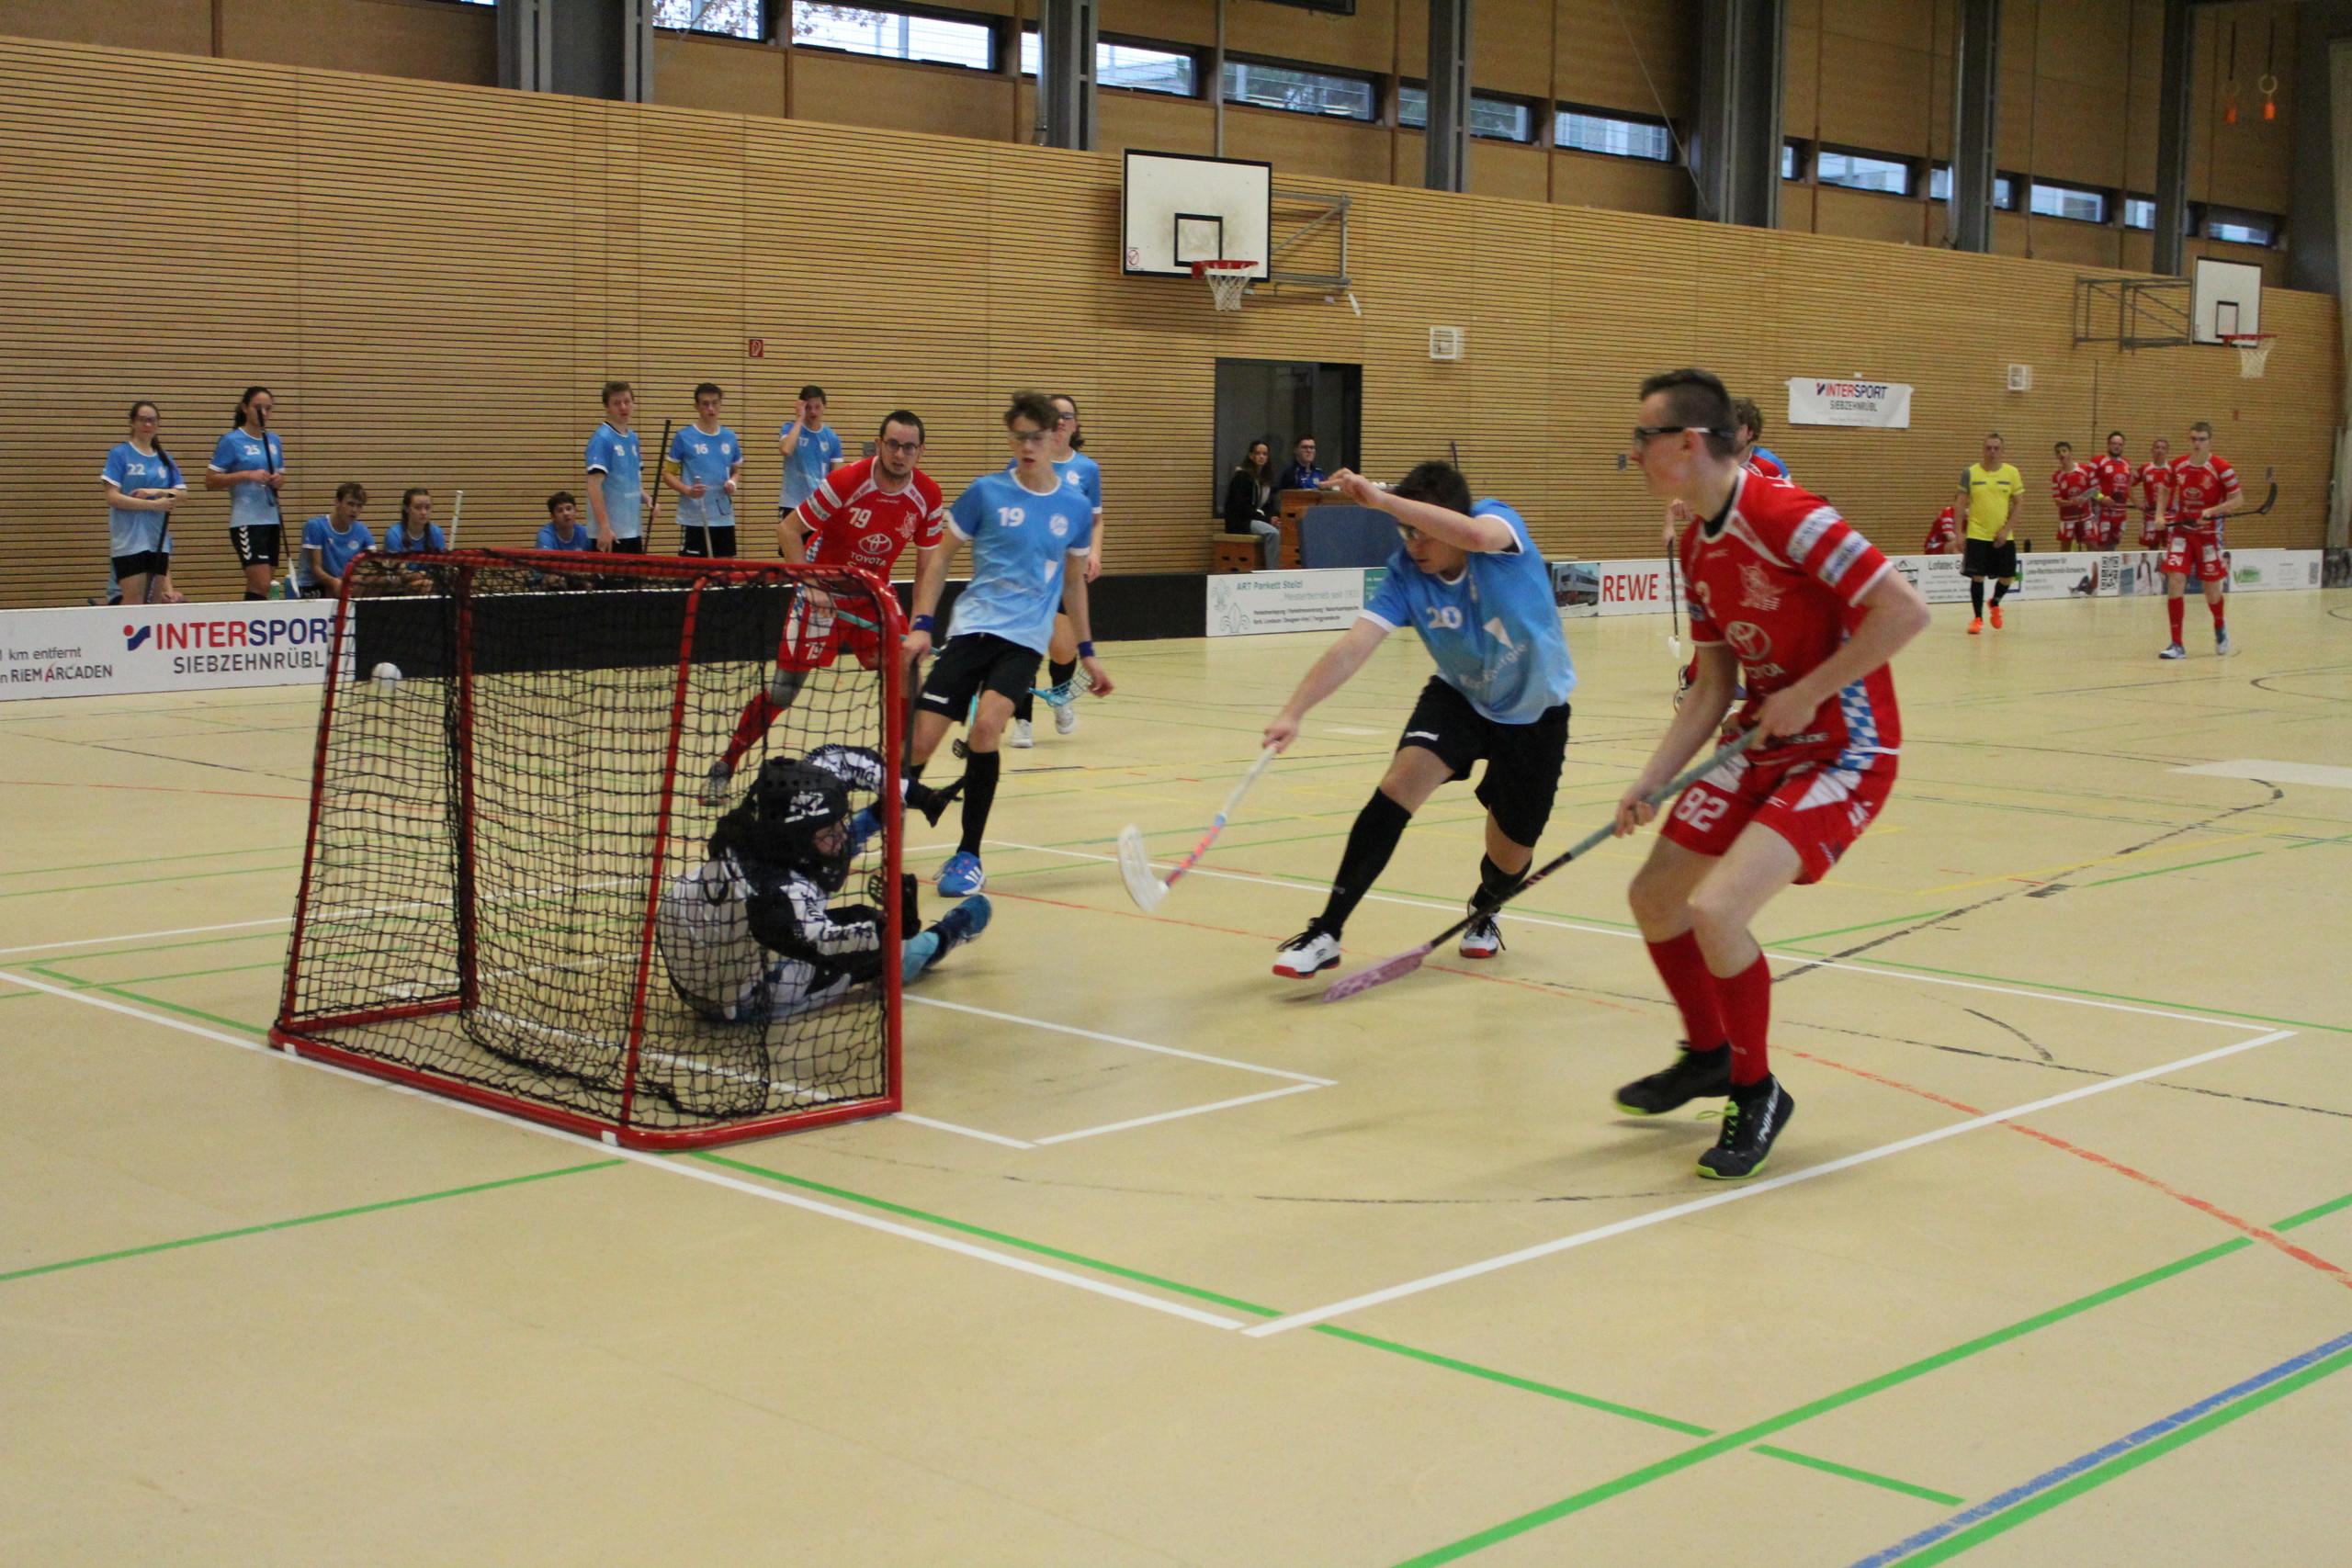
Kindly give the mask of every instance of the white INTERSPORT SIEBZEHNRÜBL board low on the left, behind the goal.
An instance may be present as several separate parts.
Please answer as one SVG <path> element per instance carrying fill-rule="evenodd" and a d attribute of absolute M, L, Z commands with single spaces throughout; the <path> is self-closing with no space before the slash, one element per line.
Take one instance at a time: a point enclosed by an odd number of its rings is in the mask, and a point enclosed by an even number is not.
<path fill-rule="evenodd" d="M 332 599 L 0 611 L 0 698 L 327 679 Z"/>

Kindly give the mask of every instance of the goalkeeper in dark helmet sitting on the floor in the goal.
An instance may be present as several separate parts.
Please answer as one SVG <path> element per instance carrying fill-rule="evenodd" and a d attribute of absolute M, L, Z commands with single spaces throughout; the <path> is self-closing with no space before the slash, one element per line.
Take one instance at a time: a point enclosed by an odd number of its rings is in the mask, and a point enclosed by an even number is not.
<path fill-rule="evenodd" d="M 710 835 L 710 858 L 661 896 L 656 938 L 670 987 L 713 1023 L 769 1023 L 882 978 L 882 922 L 866 903 L 835 905 L 858 846 L 880 830 L 882 757 L 821 745 L 762 764 Z M 920 929 L 913 877 L 901 879 L 901 983 L 988 926 L 988 900 L 964 898 Z"/>

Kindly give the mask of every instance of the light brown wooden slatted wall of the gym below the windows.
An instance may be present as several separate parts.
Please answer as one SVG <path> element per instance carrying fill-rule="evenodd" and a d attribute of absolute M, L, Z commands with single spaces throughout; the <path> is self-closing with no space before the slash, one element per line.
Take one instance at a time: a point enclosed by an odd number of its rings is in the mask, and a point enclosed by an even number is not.
<path fill-rule="evenodd" d="M 200 470 L 249 381 L 278 393 L 287 517 L 346 477 L 379 527 L 405 484 L 445 517 L 463 487 L 482 545 L 529 543 L 541 498 L 581 487 L 607 376 L 637 383 L 649 447 L 696 381 L 729 388 L 753 524 L 802 381 L 849 442 L 917 409 L 950 494 L 1002 461 L 1004 393 L 1068 390 L 1105 468 L 1110 567 L 1197 571 L 1218 355 L 1364 364 L 1374 473 L 1454 440 L 1557 555 L 1651 548 L 1656 508 L 1613 458 L 1639 376 L 1682 362 L 1769 416 L 1797 374 L 1915 383 L 1910 430 L 1766 435 L 1893 545 L 1985 428 L 2039 480 L 2060 435 L 2122 425 L 2140 454 L 2199 416 L 2249 480 L 2279 477 L 2277 512 L 2234 541 L 2319 543 L 2326 296 L 2270 292 L 2281 341 L 2241 381 L 2225 350 L 2077 350 L 2063 266 L 1352 186 L 1362 317 L 1301 296 L 1216 315 L 1195 284 L 1117 273 L 1117 179 L 1091 153 L 0 40 L 0 604 L 103 585 L 96 470 L 132 397 Z M 1465 327 L 1470 357 L 1430 362 L 1432 324 Z M 2011 362 L 2030 395 L 2004 390 Z M 238 590 L 226 510 L 198 491 L 176 517 L 195 597 Z"/>

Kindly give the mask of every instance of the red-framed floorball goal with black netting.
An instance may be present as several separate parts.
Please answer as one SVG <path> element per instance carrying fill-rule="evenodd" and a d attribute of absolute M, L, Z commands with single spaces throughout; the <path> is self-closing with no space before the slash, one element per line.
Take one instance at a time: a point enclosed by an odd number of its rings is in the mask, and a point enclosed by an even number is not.
<path fill-rule="evenodd" d="M 367 557 L 273 1041 L 635 1147 L 896 1110 L 898 635 L 837 569 Z"/>

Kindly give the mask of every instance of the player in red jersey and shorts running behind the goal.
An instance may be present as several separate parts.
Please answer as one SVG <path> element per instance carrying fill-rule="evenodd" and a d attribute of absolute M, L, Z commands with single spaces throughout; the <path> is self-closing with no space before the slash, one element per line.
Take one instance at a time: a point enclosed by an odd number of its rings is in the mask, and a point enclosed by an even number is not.
<path fill-rule="evenodd" d="M 779 555 L 795 564 L 863 567 L 884 583 L 889 583 L 891 567 L 898 564 L 908 543 L 915 545 L 917 559 L 924 564 L 931 564 L 934 555 L 943 564 L 941 527 L 948 510 L 938 482 L 915 465 L 922 458 L 922 442 L 924 430 L 915 414 L 906 409 L 887 414 L 875 440 L 875 456 L 842 463 L 826 475 L 814 496 L 776 520 Z M 913 663 L 931 646 L 927 621 L 929 616 L 917 616 L 898 646 L 901 689 Z M 868 670 L 880 668 L 882 628 L 837 609 L 833 597 L 818 588 L 804 590 L 786 618 L 783 639 L 776 646 L 776 675 L 767 691 L 743 705 L 727 752 L 710 764 L 710 778 L 703 785 L 708 804 L 727 804 L 729 780 L 743 752 L 757 745 L 776 717 L 793 705 L 809 672 L 828 668 L 844 651 Z M 938 804 L 943 806 L 946 799 Z"/>

